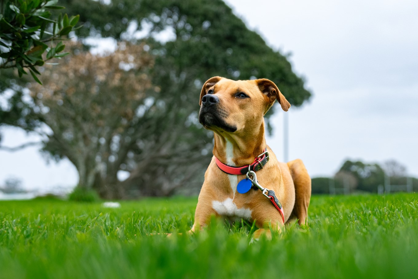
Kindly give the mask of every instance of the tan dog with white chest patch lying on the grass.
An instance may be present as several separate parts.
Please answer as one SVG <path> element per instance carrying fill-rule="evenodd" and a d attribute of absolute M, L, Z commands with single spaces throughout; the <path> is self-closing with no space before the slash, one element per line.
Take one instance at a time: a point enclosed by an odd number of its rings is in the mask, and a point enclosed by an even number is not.
<path fill-rule="evenodd" d="M 306 223 L 311 179 L 303 162 L 300 159 L 287 164 L 279 162 L 265 142 L 263 116 L 276 99 L 283 110 L 290 108 L 277 86 L 268 79 L 234 81 L 212 77 L 203 85 L 199 122 L 214 132 L 214 156 L 205 173 L 191 232 L 203 228 L 211 215 L 255 220 L 259 228 L 254 233 L 256 239 L 263 233 L 270 238 L 267 229 L 270 225 L 280 230 L 286 221 L 295 218 L 299 224 Z M 257 164 L 261 157 L 255 159 L 265 150 L 268 162 L 264 160 L 262 168 L 254 166 L 256 177 L 262 187 L 274 190 L 283 208 L 276 207 L 273 199 L 260 190 L 237 192 L 237 184 L 246 178 L 248 166 Z M 229 174 L 221 170 L 222 165 L 227 165 L 224 166 L 227 169 L 228 166 L 245 167 L 245 170 L 242 174 Z M 249 178 L 254 179 L 251 174 Z"/>

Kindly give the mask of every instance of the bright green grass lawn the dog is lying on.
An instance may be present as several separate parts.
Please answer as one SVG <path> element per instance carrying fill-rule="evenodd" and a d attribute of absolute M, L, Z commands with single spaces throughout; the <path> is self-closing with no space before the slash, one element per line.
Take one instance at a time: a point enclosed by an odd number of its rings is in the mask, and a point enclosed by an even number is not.
<path fill-rule="evenodd" d="M 196 198 L 0 202 L 0 278 L 416 278 L 415 194 L 312 197 L 309 228 L 250 244 L 250 225 L 196 235 Z"/>

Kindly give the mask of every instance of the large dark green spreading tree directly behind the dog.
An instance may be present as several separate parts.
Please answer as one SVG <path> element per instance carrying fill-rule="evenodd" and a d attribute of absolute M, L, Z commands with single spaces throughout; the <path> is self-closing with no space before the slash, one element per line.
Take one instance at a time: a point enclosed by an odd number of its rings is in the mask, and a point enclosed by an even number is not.
<path fill-rule="evenodd" d="M 154 61 L 148 73 L 150 81 L 160 90 L 146 93 L 145 107 L 140 107 L 146 133 L 135 141 L 126 160 L 115 165 L 130 171 L 130 178 L 118 186 L 105 185 L 96 178 L 97 189 L 123 187 L 130 195 L 170 195 L 178 186 L 199 188 L 198 180 L 212 149 L 212 135 L 200 127 L 196 117 L 201 85 L 209 77 L 269 78 L 296 106 L 311 96 L 286 57 L 248 30 L 220 0 L 60 3 L 69 13 L 80 14 L 84 28 L 76 31 L 79 39 L 111 36 L 117 41 L 145 43 Z M 136 31 L 142 34 L 140 38 Z M 89 86 L 94 87 L 94 81 Z M 100 90 L 107 95 L 110 88 Z M 269 111 L 267 124 L 273 112 Z M 115 115 L 107 117 L 113 119 Z M 44 150 L 58 154 L 56 148 L 61 147 L 54 148 L 49 144 Z M 107 191 L 110 194 L 106 195 L 111 197 L 114 192 Z"/>

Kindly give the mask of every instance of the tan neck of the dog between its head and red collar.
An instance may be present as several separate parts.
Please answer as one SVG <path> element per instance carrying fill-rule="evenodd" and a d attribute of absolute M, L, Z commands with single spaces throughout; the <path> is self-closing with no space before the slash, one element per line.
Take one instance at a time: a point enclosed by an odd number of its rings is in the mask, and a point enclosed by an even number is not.
<path fill-rule="evenodd" d="M 251 164 L 255 157 L 266 148 L 264 121 L 259 127 L 252 126 L 252 131 L 245 133 L 214 132 L 213 154 L 229 166 L 245 166 Z"/>

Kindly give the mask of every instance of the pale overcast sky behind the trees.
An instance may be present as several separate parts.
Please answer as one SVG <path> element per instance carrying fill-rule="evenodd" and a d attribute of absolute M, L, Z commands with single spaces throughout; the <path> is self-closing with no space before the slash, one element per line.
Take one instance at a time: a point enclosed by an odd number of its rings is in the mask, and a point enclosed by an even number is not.
<path fill-rule="evenodd" d="M 418 177 L 418 1 L 226 2 L 271 47 L 292 53 L 293 69 L 314 93 L 288 112 L 289 159 L 303 159 L 312 177 L 334 174 L 345 159 L 395 159 Z M 277 112 L 268 144 L 283 159 Z M 7 146 L 31 140 L 16 129 L 1 132 Z M 0 151 L 0 184 L 8 177 L 26 188 L 76 184 L 68 160 L 46 165 L 37 150 Z"/>

